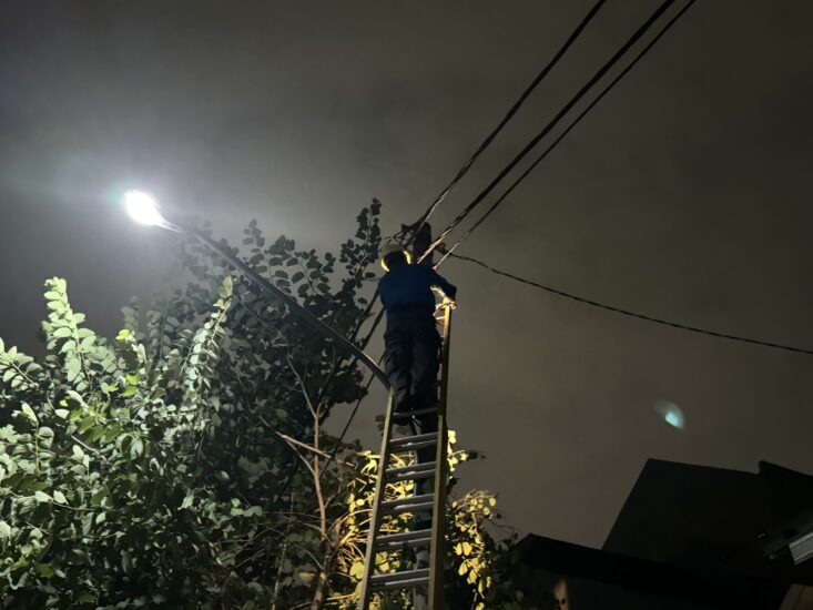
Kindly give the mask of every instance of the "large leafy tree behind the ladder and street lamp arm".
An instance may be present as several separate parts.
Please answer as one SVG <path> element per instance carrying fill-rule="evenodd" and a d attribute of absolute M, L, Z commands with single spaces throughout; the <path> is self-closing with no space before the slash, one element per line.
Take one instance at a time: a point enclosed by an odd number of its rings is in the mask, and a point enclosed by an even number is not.
<path fill-rule="evenodd" d="M 253 221 L 248 262 L 354 336 L 378 213 L 362 211 L 338 256 L 285 236 L 266 246 Z M 54 278 L 44 359 L 0 342 L 0 596 L 20 608 L 349 608 L 378 458 L 324 423 L 363 397 L 362 372 L 209 251 L 184 243 L 179 261 L 186 284 L 143 316 L 125 307 L 112 340 Z M 449 594 L 476 607 L 497 590 L 494 498 L 456 501 Z"/>

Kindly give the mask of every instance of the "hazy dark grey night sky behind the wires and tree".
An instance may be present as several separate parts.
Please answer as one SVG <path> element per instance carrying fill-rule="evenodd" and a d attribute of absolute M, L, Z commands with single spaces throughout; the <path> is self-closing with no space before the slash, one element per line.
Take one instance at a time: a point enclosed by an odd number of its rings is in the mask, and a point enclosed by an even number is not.
<path fill-rule="evenodd" d="M 657 6 L 610 2 L 435 218 L 448 222 Z M 590 2 L 7 2 L 0 336 L 32 350 L 42 282 L 111 334 L 172 235 L 141 186 L 236 238 L 333 247 L 382 199 L 414 221 Z M 701 0 L 460 248 L 561 289 L 813 347 L 813 4 Z M 460 474 L 524 531 L 598 546 L 649 457 L 813 471 L 813 357 L 562 301 L 453 261 Z M 373 346 L 377 355 L 380 342 Z M 653 414 L 682 407 L 687 429 Z M 377 446 L 380 393 L 354 427 Z M 344 415 L 339 415 L 343 418 Z M 336 423 L 337 425 L 339 421 Z"/>

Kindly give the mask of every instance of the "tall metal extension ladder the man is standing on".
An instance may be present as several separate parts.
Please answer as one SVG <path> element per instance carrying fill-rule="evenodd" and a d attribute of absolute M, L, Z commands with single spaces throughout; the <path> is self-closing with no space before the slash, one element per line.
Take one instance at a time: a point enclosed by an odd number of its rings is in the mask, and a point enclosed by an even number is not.
<path fill-rule="evenodd" d="M 437 315 L 439 314 L 439 315 Z M 449 380 L 449 347 L 451 331 L 451 306 L 443 305 L 436 312 L 435 321 L 441 326 L 440 370 L 435 392 L 439 393 L 437 407 L 411 411 L 413 417 L 437 417 L 437 431 L 415 434 L 413 424 L 410 436 L 395 436 L 393 418 L 393 395 L 387 404 L 387 414 L 384 419 L 384 436 L 382 439 L 382 459 L 378 466 L 373 510 L 370 512 L 367 549 L 364 558 L 364 576 L 362 577 L 360 598 L 358 610 L 368 610 L 374 593 L 384 593 L 394 590 L 413 590 L 416 610 L 443 610 L 444 603 L 444 545 L 446 518 L 446 487 L 448 480 L 448 462 L 446 450 L 448 445 L 448 429 L 446 427 L 446 396 Z M 407 454 L 417 449 L 435 447 L 433 461 L 418 462 L 417 454 L 413 464 L 398 468 L 390 467 L 390 457 L 396 454 Z M 413 480 L 416 495 L 396 500 L 385 500 L 387 484 Z M 418 481 L 424 481 L 424 489 L 418 491 Z M 426 484 L 433 481 L 429 488 Z M 433 489 L 428 492 L 428 489 Z M 379 533 L 382 520 L 386 516 L 411 514 L 426 516 L 424 523 L 430 522 L 429 528 L 403 531 L 397 533 Z M 414 519 L 415 521 L 416 519 Z M 406 571 L 374 573 L 376 556 L 380 552 L 392 552 L 406 549 L 416 549 L 418 558 L 425 558 L 428 551 L 428 567 L 414 567 Z M 416 561 L 417 562 L 417 561 Z"/>

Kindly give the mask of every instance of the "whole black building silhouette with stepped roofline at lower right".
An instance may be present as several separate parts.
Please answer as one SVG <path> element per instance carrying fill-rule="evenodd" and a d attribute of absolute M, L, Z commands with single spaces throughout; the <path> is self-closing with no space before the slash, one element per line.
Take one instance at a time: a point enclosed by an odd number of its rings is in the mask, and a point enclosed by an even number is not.
<path fill-rule="evenodd" d="M 652 459 L 602 550 L 528 536 L 518 551 L 517 580 L 540 609 L 806 610 L 813 477 Z"/>

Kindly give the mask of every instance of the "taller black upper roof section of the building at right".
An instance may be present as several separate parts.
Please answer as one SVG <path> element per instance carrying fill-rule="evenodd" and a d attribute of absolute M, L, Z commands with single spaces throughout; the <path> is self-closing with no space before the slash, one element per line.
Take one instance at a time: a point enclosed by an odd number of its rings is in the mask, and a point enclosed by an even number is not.
<path fill-rule="evenodd" d="M 756 474 L 650 459 L 604 550 L 694 572 L 813 586 L 791 541 L 813 531 L 813 477 L 769 462 Z"/>

